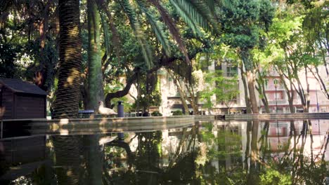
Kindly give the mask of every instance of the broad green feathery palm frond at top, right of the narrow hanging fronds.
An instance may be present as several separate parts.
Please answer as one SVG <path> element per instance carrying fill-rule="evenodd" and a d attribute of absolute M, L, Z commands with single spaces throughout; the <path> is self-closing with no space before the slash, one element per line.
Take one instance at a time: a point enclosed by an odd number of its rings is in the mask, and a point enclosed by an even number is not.
<path fill-rule="evenodd" d="M 219 24 L 214 13 L 216 4 L 214 0 L 170 0 L 170 2 L 184 20 L 189 16 L 191 21 L 203 29 L 219 33 Z"/>

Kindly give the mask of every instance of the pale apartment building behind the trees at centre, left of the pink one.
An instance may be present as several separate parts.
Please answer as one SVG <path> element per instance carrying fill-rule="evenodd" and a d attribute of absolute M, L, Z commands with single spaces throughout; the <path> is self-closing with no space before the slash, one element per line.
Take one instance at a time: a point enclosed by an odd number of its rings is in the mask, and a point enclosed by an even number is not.
<path fill-rule="evenodd" d="M 201 57 L 200 60 L 205 60 L 205 57 Z M 202 67 L 202 71 L 214 72 L 215 70 L 221 70 L 222 74 L 228 78 L 233 76 L 238 76 L 237 90 L 239 91 L 236 98 L 224 104 L 216 100 L 216 96 L 212 97 L 214 107 L 212 109 L 207 109 L 204 107 L 202 100 L 198 101 L 198 109 L 201 114 L 242 114 L 245 112 L 245 94 L 243 88 L 243 82 L 241 80 L 241 73 L 237 66 L 231 64 L 231 62 L 219 62 L 217 60 L 212 60 L 205 62 Z M 162 95 L 162 104 L 159 108 L 160 113 L 164 116 L 172 115 L 173 111 L 183 111 L 183 105 L 181 104 L 181 97 L 174 84 L 173 79 L 165 69 L 160 69 L 157 71 L 158 79 L 160 80 L 160 91 Z M 183 82 L 182 82 L 183 83 Z M 216 87 L 216 84 L 214 84 Z M 188 111 L 191 113 L 193 111 L 191 104 L 188 104 Z"/>

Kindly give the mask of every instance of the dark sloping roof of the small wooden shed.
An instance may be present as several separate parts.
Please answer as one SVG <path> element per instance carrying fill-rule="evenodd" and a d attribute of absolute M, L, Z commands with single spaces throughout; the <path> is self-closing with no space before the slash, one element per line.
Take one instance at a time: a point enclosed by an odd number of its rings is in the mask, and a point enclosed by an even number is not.
<path fill-rule="evenodd" d="M 11 78 L 0 78 L 0 83 L 15 93 L 30 93 L 34 95 L 47 95 L 47 93 L 37 85 L 27 81 L 21 81 Z"/>

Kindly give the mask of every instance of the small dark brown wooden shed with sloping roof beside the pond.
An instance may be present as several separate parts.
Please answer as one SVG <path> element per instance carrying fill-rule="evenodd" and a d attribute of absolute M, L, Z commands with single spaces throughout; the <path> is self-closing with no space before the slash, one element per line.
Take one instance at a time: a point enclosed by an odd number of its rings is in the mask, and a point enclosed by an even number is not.
<path fill-rule="evenodd" d="M 46 95 L 33 83 L 0 78 L 0 119 L 46 118 Z"/>

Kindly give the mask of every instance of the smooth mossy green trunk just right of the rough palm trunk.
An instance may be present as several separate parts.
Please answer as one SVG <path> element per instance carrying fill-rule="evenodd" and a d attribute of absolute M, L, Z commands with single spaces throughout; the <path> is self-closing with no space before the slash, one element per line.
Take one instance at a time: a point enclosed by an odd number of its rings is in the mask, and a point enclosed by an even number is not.
<path fill-rule="evenodd" d="M 87 1 L 88 14 L 88 100 L 86 109 L 96 110 L 104 101 L 100 43 L 100 15 L 95 0 Z"/>

